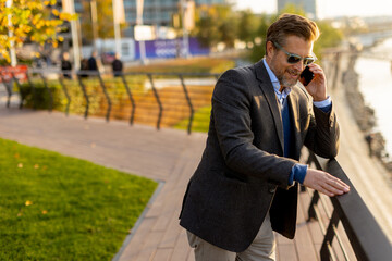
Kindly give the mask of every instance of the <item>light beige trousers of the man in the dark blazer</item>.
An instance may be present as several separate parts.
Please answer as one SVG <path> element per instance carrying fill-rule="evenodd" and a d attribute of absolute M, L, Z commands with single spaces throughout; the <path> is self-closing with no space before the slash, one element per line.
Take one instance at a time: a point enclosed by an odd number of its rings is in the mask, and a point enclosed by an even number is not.
<path fill-rule="evenodd" d="M 244 252 L 231 252 L 216 247 L 187 232 L 188 241 L 195 251 L 196 261 L 274 261 L 275 239 L 269 213 L 252 245 Z"/>

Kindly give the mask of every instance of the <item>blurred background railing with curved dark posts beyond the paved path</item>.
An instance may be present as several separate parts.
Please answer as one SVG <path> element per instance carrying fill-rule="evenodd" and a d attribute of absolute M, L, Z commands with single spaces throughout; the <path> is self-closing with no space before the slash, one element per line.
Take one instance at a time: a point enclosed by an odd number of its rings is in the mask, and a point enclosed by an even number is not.
<path fill-rule="evenodd" d="M 0 73 L 1 75 L 1 73 Z M 64 75 L 70 75 L 64 77 Z M 135 87 L 134 79 L 139 77 Z M 78 107 L 84 108 L 83 115 L 85 119 L 91 115 L 93 99 L 99 98 L 99 111 L 100 113 L 93 113 L 101 115 L 105 110 L 105 117 L 109 122 L 113 117 L 113 113 L 128 115 L 128 122 L 131 125 L 135 123 L 135 120 L 149 117 L 148 122 L 151 123 L 156 117 L 155 126 L 160 129 L 163 125 L 170 126 L 175 122 L 187 120 L 187 132 L 192 133 L 194 114 L 197 109 L 208 107 L 210 104 L 210 95 L 213 89 L 215 82 L 218 79 L 219 74 L 210 73 L 124 73 L 118 77 L 113 77 L 111 74 L 101 74 L 98 71 L 59 71 L 59 70 L 28 70 L 26 83 L 21 83 L 13 77 L 16 90 L 21 96 L 20 108 L 23 108 L 26 103 L 26 96 L 23 92 L 23 86 L 28 86 L 28 92 L 30 95 L 30 107 L 37 109 L 41 105 L 42 101 L 38 97 L 38 85 L 44 87 L 47 96 L 46 108 L 49 112 L 58 105 L 54 101 L 56 97 L 52 94 L 53 84 L 61 86 L 62 96 L 65 99 L 63 111 L 66 115 L 70 114 L 72 105 L 75 107 L 75 102 L 79 102 Z M 142 79 L 140 79 L 142 78 Z M 210 84 L 201 84 L 203 86 L 195 86 L 195 84 L 188 83 L 196 78 L 210 79 Z M 159 82 L 176 82 L 169 83 L 166 86 L 157 86 Z M 4 82 L 4 80 L 3 80 Z M 140 87 L 142 85 L 142 87 Z M 10 86 L 7 84 L 7 86 Z M 91 88 L 94 86 L 94 88 Z M 111 87 L 110 87 L 111 86 Z M 115 87 L 113 87 L 115 86 Z M 78 89 L 78 95 L 71 95 L 75 92 L 75 88 Z M 15 88 L 14 88 L 15 89 Z M 124 90 L 125 97 L 115 97 L 115 91 Z M 12 88 L 8 90 L 8 107 L 10 105 Z M 203 95 L 204 92 L 204 95 Z M 81 103 L 81 97 L 83 102 Z M 151 99 L 151 97 L 154 99 Z M 176 101 L 174 100 L 176 99 Z M 78 101 L 74 101 L 77 99 Z M 126 100 L 125 100 L 126 99 Z M 114 108 L 115 103 L 126 103 L 126 108 L 130 108 L 128 112 L 125 112 L 124 108 Z M 97 104 L 96 104 L 97 107 Z M 41 108 L 42 109 L 42 108 Z M 122 110 L 122 111 L 121 111 Z M 79 110 L 78 110 L 79 111 Z M 138 111 L 144 111 L 137 114 Z M 180 113 L 181 112 L 181 113 Z M 174 114 L 179 114 L 175 115 Z M 117 119 L 124 119 L 123 116 L 115 116 Z M 170 119 L 172 117 L 172 119 Z M 166 121 L 164 121 L 166 120 Z M 147 120 L 146 120 L 147 121 Z M 145 121 L 145 122 L 146 122 Z"/>

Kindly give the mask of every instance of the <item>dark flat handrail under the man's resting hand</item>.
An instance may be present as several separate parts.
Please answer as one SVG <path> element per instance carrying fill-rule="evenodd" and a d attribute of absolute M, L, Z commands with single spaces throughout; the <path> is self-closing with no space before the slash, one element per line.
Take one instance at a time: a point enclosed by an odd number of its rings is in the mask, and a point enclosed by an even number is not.
<path fill-rule="evenodd" d="M 358 260 L 369 261 L 390 260 L 392 257 L 391 243 L 339 162 L 335 159 L 330 159 L 327 162 L 321 163 L 322 158 L 315 156 L 310 151 L 309 159 L 319 166 L 318 169 L 321 169 L 340 178 L 351 187 L 348 194 L 330 199 L 334 208 L 333 213 L 339 219 L 338 222 L 342 222 L 356 258 Z M 317 191 L 315 191 L 314 197 L 319 197 Z M 313 201 L 309 206 L 309 211 L 314 208 L 314 206 L 315 202 Z M 332 225 L 335 226 L 335 224 L 333 224 L 335 222 L 336 220 L 333 220 L 332 214 L 329 229 L 332 228 Z M 323 245 L 331 245 L 332 243 L 334 236 L 328 234 L 329 232 L 327 232 Z M 327 236 L 330 238 L 327 238 Z M 327 249 L 327 246 L 321 247 L 321 260 L 330 260 L 329 256 L 322 253 L 322 249 Z"/>

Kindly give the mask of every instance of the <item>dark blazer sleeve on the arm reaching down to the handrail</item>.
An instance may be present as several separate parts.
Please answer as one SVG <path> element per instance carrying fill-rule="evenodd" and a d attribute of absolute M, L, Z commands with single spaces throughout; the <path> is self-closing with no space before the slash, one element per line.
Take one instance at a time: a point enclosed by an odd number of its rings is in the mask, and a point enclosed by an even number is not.
<path fill-rule="evenodd" d="M 253 175 L 287 189 L 289 176 L 295 163 L 268 153 L 253 145 L 252 94 L 244 69 L 230 70 L 218 80 L 212 94 L 213 124 L 225 164 L 243 175 Z M 252 72 L 250 72 L 252 73 Z M 255 77 L 253 75 L 253 77 Z M 265 113 L 270 113 L 265 112 Z"/>

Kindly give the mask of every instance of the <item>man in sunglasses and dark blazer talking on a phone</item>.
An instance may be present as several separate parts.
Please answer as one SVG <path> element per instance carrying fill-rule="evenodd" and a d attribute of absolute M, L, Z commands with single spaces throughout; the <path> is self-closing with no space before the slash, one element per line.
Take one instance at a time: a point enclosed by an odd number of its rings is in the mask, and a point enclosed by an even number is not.
<path fill-rule="evenodd" d="M 313 63 L 318 36 L 314 22 L 284 14 L 267 32 L 265 59 L 219 78 L 206 149 L 180 214 L 197 261 L 274 260 L 272 231 L 295 234 L 297 183 L 330 197 L 348 192 L 297 162 L 303 145 L 324 158 L 339 147 L 326 76 Z M 297 85 L 305 65 L 314 74 L 306 90 Z"/>

